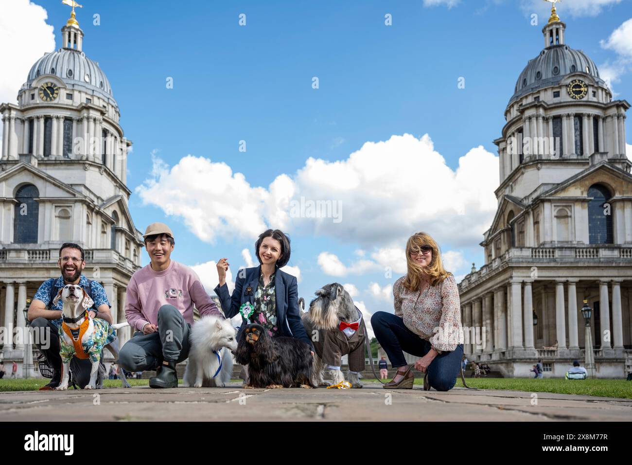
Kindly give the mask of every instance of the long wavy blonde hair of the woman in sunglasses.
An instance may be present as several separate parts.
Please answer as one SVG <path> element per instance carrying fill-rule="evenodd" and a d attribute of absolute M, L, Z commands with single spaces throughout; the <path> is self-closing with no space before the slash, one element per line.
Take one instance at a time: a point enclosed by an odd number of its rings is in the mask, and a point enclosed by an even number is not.
<path fill-rule="evenodd" d="M 432 247 L 432 260 L 428 266 L 420 266 L 410 257 L 410 252 L 418 252 L 423 245 Z M 422 285 L 422 278 L 425 277 L 431 286 L 441 284 L 447 276 L 452 273 L 443 268 L 441 261 L 441 251 L 437 242 L 426 232 L 418 232 L 408 238 L 406 242 L 406 263 L 408 272 L 404 278 L 403 285 L 411 292 L 418 291 Z"/>

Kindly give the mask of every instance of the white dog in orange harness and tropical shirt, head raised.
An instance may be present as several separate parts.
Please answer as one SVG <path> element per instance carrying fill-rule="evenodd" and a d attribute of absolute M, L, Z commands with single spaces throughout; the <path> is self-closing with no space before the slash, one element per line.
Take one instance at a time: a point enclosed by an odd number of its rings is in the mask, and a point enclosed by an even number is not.
<path fill-rule="evenodd" d="M 127 326 L 128 323 L 119 325 L 109 325 L 101 318 L 90 318 L 88 310 L 92 308 L 94 302 L 85 290 L 76 284 L 66 284 L 59 289 L 53 299 L 53 305 L 61 299 L 63 304 L 63 323 L 59 326 L 59 342 L 61 349 L 59 355 L 63 363 L 63 373 L 61 384 L 58 390 L 68 389 L 70 380 L 70 361 L 73 356 L 80 359 L 89 358 L 92 362 L 90 370 L 90 382 L 86 389 L 97 388 L 97 372 L 99 371 L 99 360 L 104 347 L 112 353 L 114 359 L 118 359 L 118 344 L 116 343 L 116 333 L 114 330 Z M 121 369 L 121 384 L 123 387 L 130 387 L 130 383 L 125 378 L 125 373 Z"/>

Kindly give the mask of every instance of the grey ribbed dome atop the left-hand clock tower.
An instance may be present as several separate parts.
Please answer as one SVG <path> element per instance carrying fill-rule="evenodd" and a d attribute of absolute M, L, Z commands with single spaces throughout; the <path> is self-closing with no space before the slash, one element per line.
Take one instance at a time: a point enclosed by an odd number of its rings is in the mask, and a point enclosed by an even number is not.
<path fill-rule="evenodd" d="M 61 48 L 44 54 L 28 71 L 27 86 L 43 74 L 56 75 L 68 87 L 86 90 L 117 106 L 106 73 L 82 51 Z"/>

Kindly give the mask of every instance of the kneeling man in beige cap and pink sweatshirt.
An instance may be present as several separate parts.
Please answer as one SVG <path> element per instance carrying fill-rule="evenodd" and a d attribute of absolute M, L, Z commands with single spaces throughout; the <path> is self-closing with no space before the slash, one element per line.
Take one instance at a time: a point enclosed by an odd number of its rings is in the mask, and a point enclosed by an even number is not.
<path fill-rule="evenodd" d="M 145 249 L 151 263 L 131 276 L 125 317 L 134 336 L 119 353 L 128 371 L 156 370 L 152 388 L 178 387 L 176 364 L 189 356 L 193 306 L 200 315 L 222 316 L 195 271 L 171 259 L 173 233 L 164 223 L 147 226 Z"/>

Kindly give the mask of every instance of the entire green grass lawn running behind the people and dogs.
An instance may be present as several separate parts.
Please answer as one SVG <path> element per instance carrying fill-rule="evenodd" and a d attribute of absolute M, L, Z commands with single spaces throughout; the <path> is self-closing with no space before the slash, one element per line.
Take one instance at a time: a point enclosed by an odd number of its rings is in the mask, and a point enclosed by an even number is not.
<path fill-rule="evenodd" d="M 132 386 L 147 386 L 149 380 L 128 380 Z M 371 378 L 362 378 L 364 383 L 377 383 Z M 0 380 L 1 391 L 29 391 L 44 386 L 48 380 Z M 241 382 L 241 380 L 231 380 Z M 182 380 L 180 380 L 182 383 Z M 621 397 L 632 399 L 632 381 L 626 380 L 564 380 L 548 378 L 534 380 L 532 378 L 466 378 L 470 387 L 479 389 L 506 389 L 525 392 L 552 392 L 557 394 L 596 395 L 599 397 Z M 120 388 L 121 380 L 104 380 L 106 388 Z M 422 386 L 423 378 L 415 378 L 415 385 Z M 461 380 L 456 381 L 456 387 L 463 387 Z"/>

